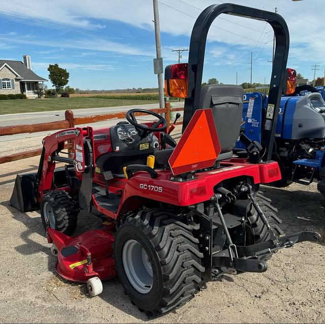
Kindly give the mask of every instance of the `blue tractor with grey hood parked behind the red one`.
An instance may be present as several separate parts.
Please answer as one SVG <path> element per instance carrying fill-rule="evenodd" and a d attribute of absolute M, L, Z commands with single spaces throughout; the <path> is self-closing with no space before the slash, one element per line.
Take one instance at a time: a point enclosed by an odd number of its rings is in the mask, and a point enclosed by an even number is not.
<path fill-rule="evenodd" d="M 282 179 L 274 185 L 281 187 L 293 182 L 309 185 L 317 181 L 318 190 L 325 196 L 324 98 L 325 86 L 300 86 L 281 97 L 271 151 Z M 239 157 L 249 156 L 249 149 L 254 148 L 263 161 L 264 150 L 259 143 L 263 143 L 265 124 L 274 113 L 274 105 L 268 103 L 265 93 L 244 94 L 241 136 L 236 144 Z"/>

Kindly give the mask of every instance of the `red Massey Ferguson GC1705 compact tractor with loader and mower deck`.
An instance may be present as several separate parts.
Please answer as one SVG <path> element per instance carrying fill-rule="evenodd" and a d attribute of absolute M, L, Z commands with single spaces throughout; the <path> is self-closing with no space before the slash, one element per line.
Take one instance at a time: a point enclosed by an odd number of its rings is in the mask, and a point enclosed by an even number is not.
<path fill-rule="evenodd" d="M 276 33 L 269 95 L 275 113 L 264 125 L 269 142 L 248 143 L 248 158 L 233 156 L 243 89 L 201 87 L 208 29 L 221 13 L 267 21 Z M 260 183 L 280 179 L 270 154 L 288 44 L 287 26 L 275 13 L 210 6 L 194 25 L 188 64 L 166 68 L 168 94 L 186 98 L 177 145 L 163 117 L 140 109 L 112 127 L 70 128 L 43 140 L 39 170 L 17 176 L 11 204 L 41 210 L 62 278 L 86 282 L 95 296 L 102 280 L 118 276 L 131 301 L 156 316 L 184 305 L 208 280 L 264 272 L 279 249 L 320 239 L 315 232 L 281 236 L 277 210 L 259 192 Z M 156 120 L 139 123 L 139 112 Z M 62 152 L 68 141 L 73 157 Z M 71 236 L 80 210 L 106 216 L 106 227 Z"/>

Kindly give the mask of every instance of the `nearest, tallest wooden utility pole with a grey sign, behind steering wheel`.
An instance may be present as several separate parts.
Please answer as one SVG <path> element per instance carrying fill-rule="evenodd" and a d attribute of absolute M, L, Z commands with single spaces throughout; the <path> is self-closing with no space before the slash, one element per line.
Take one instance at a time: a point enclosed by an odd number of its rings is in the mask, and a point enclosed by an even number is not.
<path fill-rule="evenodd" d="M 154 16 L 154 32 L 156 38 L 156 52 L 157 52 L 157 68 L 156 74 L 158 75 L 158 93 L 159 93 L 159 108 L 165 107 L 164 102 L 164 82 L 163 82 L 163 58 L 161 57 L 161 44 L 160 44 L 160 25 L 159 25 L 159 11 L 158 0 L 153 0 L 153 16 Z"/>

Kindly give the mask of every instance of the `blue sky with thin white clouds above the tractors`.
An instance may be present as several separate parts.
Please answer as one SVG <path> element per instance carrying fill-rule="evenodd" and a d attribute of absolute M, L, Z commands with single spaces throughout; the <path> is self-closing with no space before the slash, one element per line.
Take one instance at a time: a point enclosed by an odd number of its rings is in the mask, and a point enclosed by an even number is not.
<path fill-rule="evenodd" d="M 164 67 L 176 63 L 175 49 L 189 48 L 196 18 L 220 0 L 158 0 Z M 283 16 L 290 33 L 287 67 L 313 79 L 325 69 L 325 0 L 232 0 L 233 3 Z M 269 83 L 273 30 L 262 21 L 221 15 L 211 26 L 203 82 Z M 0 59 L 31 56 L 32 70 L 47 78 L 49 64 L 70 73 L 80 89 L 156 87 L 153 74 L 155 37 L 152 0 L 11 0 L 0 6 Z M 187 62 L 188 52 L 182 53 Z M 51 83 L 47 83 L 51 87 Z"/>

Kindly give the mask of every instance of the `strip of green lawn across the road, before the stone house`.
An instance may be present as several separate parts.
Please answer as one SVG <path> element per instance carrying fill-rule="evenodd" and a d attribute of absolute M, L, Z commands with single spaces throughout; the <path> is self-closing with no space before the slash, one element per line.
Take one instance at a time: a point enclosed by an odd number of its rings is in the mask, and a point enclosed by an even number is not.
<path fill-rule="evenodd" d="M 116 106 L 132 106 L 157 103 L 156 100 L 121 100 L 101 98 L 52 98 L 29 100 L 0 101 L 0 115 L 42 112 L 51 110 L 74 110 L 82 108 L 102 108 Z"/>

